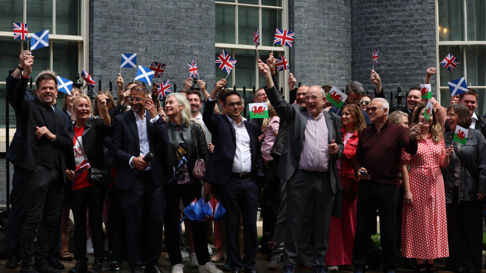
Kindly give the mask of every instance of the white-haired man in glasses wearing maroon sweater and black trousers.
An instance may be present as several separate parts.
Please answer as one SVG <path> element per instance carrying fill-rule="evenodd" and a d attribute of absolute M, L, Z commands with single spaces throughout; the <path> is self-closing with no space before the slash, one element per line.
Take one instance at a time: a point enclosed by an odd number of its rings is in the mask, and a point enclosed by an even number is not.
<path fill-rule="evenodd" d="M 366 107 L 372 124 L 361 131 L 353 160 L 355 174 L 361 179 L 353 245 L 355 273 L 366 271 L 369 237 L 376 230 L 376 211 L 380 216 L 383 272 L 394 273 L 396 269 L 400 157 L 402 149 L 411 155 L 417 153 L 417 135 L 422 123 L 413 126 L 409 133 L 403 126 L 388 122 L 388 109 L 388 102 L 383 98 L 373 99 Z"/>

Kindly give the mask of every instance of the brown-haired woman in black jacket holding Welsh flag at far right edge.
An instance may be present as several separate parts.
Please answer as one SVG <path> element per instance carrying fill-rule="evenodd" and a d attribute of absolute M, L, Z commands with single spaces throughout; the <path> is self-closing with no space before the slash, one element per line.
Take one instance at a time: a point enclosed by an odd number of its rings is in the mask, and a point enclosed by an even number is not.
<path fill-rule="evenodd" d="M 444 135 L 445 147 L 453 152 L 444 173 L 450 254 L 446 267 L 481 272 L 486 140 L 481 131 L 469 128 L 471 114 L 461 104 L 447 108 L 447 123 L 451 131 Z"/>

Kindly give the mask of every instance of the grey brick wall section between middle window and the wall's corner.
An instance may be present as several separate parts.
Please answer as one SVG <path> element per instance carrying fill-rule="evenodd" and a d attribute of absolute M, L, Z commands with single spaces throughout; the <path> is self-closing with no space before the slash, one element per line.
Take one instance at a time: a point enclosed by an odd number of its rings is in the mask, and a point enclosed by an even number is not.
<path fill-rule="evenodd" d="M 308 85 L 344 87 L 351 79 L 351 2 L 289 0 L 296 40 L 290 71 Z"/>

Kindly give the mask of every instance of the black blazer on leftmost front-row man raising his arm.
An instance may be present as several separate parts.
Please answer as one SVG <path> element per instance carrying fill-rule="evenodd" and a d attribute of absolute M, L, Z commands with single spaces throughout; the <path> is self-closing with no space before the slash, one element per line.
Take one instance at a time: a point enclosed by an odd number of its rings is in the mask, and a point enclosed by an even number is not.
<path fill-rule="evenodd" d="M 20 77 L 15 85 L 12 96 L 8 98 L 10 105 L 15 109 L 15 115 L 20 121 L 22 132 L 19 155 L 15 161 L 15 166 L 24 171 L 32 171 L 39 164 L 46 167 L 54 166 L 54 153 L 58 153 L 61 161 L 63 180 L 65 181 L 65 162 L 66 158 L 73 153 L 72 143 L 67 136 L 67 128 L 64 119 L 54 114 L 54 133 L 56 139 L 51 141 L 46 137 L 38 139 L 35 135 L 36 126 L 47 126 L 46 117 L 51 113 L 46 109 L 39 99 L 32 101 L 25 99 L 25 90 L 28 79 Z M 11 87 L 10 87 L 11 88 Z M 11 92 L 11 91 L 9 91 Z"/>

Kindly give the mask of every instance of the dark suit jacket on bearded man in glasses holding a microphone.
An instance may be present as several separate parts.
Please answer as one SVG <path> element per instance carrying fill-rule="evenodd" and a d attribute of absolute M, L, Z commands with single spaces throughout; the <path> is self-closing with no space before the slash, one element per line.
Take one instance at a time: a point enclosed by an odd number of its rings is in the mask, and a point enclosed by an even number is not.
<path fill-rule="evenodd" d="M 154 159 L 150 162 L 152 180 L 155 185 L 164 182 L 162 163 L 160 157 L 160 146 L 169 145 L 169 135 L 165 130 L 164 123 L 159 117 L 154 123 L 150 122 L 150 114 L 146 111 L 147 119 L 147 138 L 150 152 L 154 154 Z M 138 139 L 138 129 L 133 110 L 126 111 L 115 117 L 112 134 L 112 155 L 119 164 L 115 187 L 128 190 L 133 186 L 135 175 L 133 168 L 128 165 L 131 157 L 140 156 L 140 142 Z"/>

